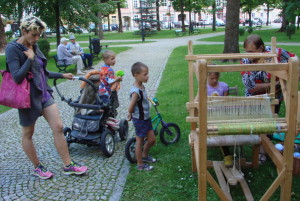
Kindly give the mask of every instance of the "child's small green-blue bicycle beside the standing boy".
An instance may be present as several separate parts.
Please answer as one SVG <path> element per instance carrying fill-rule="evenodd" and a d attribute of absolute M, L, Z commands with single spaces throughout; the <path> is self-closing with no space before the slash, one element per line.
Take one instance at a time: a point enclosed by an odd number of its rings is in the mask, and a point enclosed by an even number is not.
<path fill-rule="evenodd" d="M 165 145 L 174 144 L 179 141 L 180 139 L 180 128 L 177 124 L 173 122 L 165 122 L 163 120 L 162 115 L 158 111 L 157 107 L 159 106 L 159 102 L 157 98 L 153 98 L 153 100 L 149 99 L 151 104 L 154 106 L 156 111 L 156 116 L 151 119 L 152 124 L 154 124 L 153 130 L 154 134 L 158 134 L 158 127 L 161 125 L 159 137 L 160 141 Z M 146 143 L 147 139 L 145 139 L 144 144 Z M 136 139 L 135 137 L 128 140 L 125 146 L 125 156 L 129 160 L 130 163 L 136 163 L 135 157 L 135 144 Z"/>

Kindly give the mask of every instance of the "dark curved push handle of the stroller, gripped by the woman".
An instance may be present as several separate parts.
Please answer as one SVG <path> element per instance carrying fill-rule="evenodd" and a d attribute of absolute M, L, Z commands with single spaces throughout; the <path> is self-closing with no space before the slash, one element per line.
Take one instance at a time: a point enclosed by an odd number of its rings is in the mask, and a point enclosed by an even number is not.
<path fill-rule="evenodd" d="M 81 81 L 84 81 L 86 83 L 88 83 L 90 86 L 92 86 L 93 90 L 95 91 L 95 93 L 98 93 L 98 88 L 93 84 L 92 81 L 88 80 L 88 79 L 85 79 L 83 77 L 77 77 L 77 76 L 74 76 L 73 77 L 73 80 L 81 80 Z M 53 85 L 59 95 L 59 97 L 61 98 L 61 101 L 64 101 L 66 103 L 68 103 L 68 105 L 72 106 L 72 107 L 77 107 L 77 108 L 85 108 L 85 109 L 92 109 L 92 110 L 100 110 L 101 109 L 101 106 L 99 105 L 89 105 L 89 104 L 80 104 L 80 103 L 76 103 L 76 102 L 73 102 L 71 98 L 68 98 L 66 99 L 59 91 L 58 87 L 57 87 L 57 79 L 54 79 L 53 80 Z M 100 100 L 100 97 L 96 95 L 96 100 L 100 103 L 101 100 Z"/>

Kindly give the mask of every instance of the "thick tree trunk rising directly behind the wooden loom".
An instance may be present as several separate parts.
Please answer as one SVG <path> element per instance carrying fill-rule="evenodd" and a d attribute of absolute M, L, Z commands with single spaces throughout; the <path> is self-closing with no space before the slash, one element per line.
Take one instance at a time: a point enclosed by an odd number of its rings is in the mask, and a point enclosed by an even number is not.
<path fill-rule="evenodd" d="M 227 0 L 223 53 L 239 53 L 240 0 Z"/>

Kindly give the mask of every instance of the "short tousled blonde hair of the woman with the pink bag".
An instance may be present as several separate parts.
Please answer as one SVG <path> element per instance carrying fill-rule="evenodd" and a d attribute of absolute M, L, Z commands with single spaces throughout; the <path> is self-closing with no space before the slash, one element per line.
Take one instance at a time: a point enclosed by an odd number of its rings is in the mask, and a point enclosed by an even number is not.
<path fill-rule="evenodd" d="M 25 17 L 21 21 L 20 29 L 25 29 L 26 32 L 37 30 L 39 33 L 43 33 L 46 30 L 46 23 L 35 16 Z"/>

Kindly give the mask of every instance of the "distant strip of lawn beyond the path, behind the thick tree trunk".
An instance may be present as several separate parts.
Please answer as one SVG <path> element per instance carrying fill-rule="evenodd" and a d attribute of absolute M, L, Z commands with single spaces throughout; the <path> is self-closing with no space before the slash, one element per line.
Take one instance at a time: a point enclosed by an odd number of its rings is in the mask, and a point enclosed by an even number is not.
<path fill-rule="evenodd" d="M 255 30 L 252 34 L 258 34 L 261 36 L 264 42 L 271 42 L 271 37 L 275 36 L 277 42 L 286 42 L 286 43 L 296 43 L 300 42 L 300 30 L 296 30 L 296 34 L 292 36 L 290 40 L 286 35 L 286 32 L 277 32 L 278 29 L 268 29 L 268 30 Z M 240 42 L 244 42 L 245 38 L 249 35 L 248 32 L 245 32 L 243 36 L 239 37 Z M 223 36 L 215 36 L 211 38 L 199 39 L 199 41 L 213 41 L 213 42 L 223 42 L 225 39 L 225 35 Z"/>

